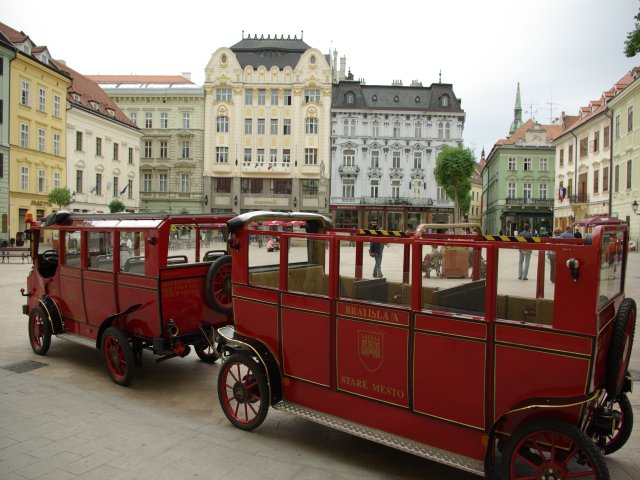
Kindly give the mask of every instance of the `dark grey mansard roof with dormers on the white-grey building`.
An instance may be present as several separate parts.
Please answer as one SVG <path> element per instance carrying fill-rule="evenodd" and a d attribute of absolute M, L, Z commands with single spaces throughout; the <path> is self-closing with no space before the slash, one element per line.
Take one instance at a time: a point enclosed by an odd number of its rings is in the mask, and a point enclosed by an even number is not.
<path fill-rule="evenodd" d="M 353 95 L 352 102 L 348 102 Z M 443 97 L 447 97 L 443 105 Z M 418 110 L 441 113 L 463 113 L 461 100 L 450 83 L 432 83 L 430 87 L 402 85 L 364 85 L 360 81 L 343 80 L 332 89 L 332 108 L 371 110 Z"/>

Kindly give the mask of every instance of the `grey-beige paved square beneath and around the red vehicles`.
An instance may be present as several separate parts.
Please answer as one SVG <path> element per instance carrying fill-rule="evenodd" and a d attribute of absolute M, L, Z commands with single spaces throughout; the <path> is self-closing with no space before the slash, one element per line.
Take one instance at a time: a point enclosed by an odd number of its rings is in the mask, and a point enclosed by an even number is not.
<path fill-rule="evenodd" d="M 195 354 L 159 364 L 146 355 L 130 387 L 111 382 L 97 350 L 54 338 L 47 356 L 35 355 L 19 294 L 30 265 L 13 262 L 0 264 L 3 480 L 477 478 L 274 410 L 256 431 L 237 430 L 218 404 L 219 365 Z M 629 266 L 627 293 L 640 302 L 640 254 Z M 15 364 L 39 368 L 7 369 Z M 607 458 L 614 480 L 640 478 L 638 388 L 631 402 L 632 437 Z"/>

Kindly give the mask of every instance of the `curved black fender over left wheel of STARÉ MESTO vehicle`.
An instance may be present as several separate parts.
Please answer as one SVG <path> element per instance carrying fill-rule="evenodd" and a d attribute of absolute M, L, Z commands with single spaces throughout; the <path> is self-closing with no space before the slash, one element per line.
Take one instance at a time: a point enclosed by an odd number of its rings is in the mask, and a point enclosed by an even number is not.
<path fill-rule="evenodd" d="M 258 358 L 267 374 L 271 405 L 280 402 L 282 400 L 282 376 L 280 375 L 280 366 L 271 350 L 256 339 L 239 334 L 231 325 L 219 328 L 218 335 L 220 336 L 218 342 L 222 345 L 223 350 L 246 352 Z"/>

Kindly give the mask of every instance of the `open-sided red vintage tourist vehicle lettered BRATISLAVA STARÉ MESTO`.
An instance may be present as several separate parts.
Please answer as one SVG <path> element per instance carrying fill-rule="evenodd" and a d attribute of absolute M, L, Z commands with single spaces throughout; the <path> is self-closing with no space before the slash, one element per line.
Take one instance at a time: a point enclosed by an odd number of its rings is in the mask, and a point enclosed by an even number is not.
<path fill-rule="evenodd" d="M 626 224 L 583 239 L 335 229 L 307 213 L 228 225 L 218 396 L 234 426 L 271 406 L 480 475 L 609 478 L 603 454 L 633 425 Z"/>

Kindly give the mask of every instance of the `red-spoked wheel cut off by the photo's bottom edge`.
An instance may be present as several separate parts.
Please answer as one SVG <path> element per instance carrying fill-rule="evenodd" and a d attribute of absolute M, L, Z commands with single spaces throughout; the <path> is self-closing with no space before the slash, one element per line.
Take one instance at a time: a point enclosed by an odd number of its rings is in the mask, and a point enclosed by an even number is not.
<path fill-rule="evenodd" d="M 534 420 L 509 439 L 500 478 L 609 480 L 604 456 L 578 427 L 557 419 Z"/>

